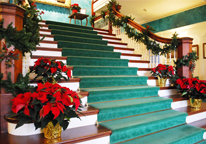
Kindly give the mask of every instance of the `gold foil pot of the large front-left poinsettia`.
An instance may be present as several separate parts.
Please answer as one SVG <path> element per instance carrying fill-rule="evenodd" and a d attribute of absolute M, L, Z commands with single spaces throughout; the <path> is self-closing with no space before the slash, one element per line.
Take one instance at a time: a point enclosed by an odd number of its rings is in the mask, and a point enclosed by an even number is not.
<path fill-rule="evenodd" d="M 44 128 L 44 137 L 47 139 L 56 139 L 61 137 L 62 127 L 57 123 L 55 126 L 50 121 Z"/>

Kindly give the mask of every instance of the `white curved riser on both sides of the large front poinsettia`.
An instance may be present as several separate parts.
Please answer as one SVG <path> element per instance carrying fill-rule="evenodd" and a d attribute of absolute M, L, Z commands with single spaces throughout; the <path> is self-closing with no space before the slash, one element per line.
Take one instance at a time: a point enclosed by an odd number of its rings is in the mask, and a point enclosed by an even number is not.
<path fill-rule="evenodd" d="M 97 121 L 97 115 L 82 116 L 80 118 L 81 120 L 78 118 L 71 118 L 67 129 L 94 125 Z M 7 123 L 7 124 L 8 124 L 8 133 L 11 135 L 27 136 L 27 135 L 40 134 L 43 132 L 40 128 L 35 130 L 34 123 L 24 124 L 23 126 L 17 129 L 15 129 L 16 124 L 13 123 Z"/>

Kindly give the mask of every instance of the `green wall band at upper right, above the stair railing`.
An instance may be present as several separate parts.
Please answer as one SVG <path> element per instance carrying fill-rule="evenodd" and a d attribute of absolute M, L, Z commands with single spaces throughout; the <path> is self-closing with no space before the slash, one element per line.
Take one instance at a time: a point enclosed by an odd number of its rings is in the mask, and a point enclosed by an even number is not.
<path fill-rule="evenodd" d="M 206 21 L 206 5 L 147 23 L 156 31 L 165 31 Z M 145 26 L 145 24 L 143 24 Z"/>

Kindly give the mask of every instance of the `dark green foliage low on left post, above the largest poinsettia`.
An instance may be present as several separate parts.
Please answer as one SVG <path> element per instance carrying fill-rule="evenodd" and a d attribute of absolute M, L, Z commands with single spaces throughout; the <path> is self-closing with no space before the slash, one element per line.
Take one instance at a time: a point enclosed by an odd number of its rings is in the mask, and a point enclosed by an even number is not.
<path fill-rule="evenodd" d="M 12 93 L 14 97 L 20 93 L 35 91 L 36 87 L 30 86 L 29 83 L 29 74 L 26 74 L 26 76 L 19 74 L 16 83 L 12 82 L 10 72 L 6 80 L 3 80 L 3 74 L 0 74 L 0 88 L 4 88 L 6 92 Z"/>

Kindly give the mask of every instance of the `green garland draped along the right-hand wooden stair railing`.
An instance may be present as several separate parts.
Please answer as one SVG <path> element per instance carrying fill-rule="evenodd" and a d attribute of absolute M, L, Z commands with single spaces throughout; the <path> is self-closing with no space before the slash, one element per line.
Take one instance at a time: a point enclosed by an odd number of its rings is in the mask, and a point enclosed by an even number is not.
<path fill-rule="evenodd" d="M 177 49 L 179 41 L 177 40 L 176 33 L 172 36 L 171 44 L 165 44 L 163 48 L 161 48 L 155 40 L 150 40 L 148 37 L 150 31 L 154 31 L 152 27 L 147 26 L 147 28 L 142 30 L 142 32 L 137 32 L 134 28 L 131 28 L 128 25 L 129 19 L 134 20 L 130 16 L 125 16 L 118 19 L 115 18 L 113 6 L 117 9 L 120 5 L 116 3 L 116 0 L 111 0 L 107 6 L 109 14 L 108 19 L 112 22 L 113 26 L 123 27 L 129 38 L 133 38 L 137 42 L 143 42 L 146 45 L 147 50 L 151 50 L 154 55 L 166 55 Z M 102 11 L 102 13 L 103 12 L 104 11 Z"/>

